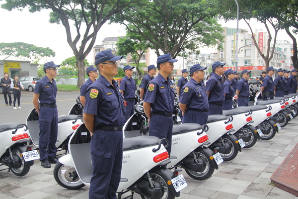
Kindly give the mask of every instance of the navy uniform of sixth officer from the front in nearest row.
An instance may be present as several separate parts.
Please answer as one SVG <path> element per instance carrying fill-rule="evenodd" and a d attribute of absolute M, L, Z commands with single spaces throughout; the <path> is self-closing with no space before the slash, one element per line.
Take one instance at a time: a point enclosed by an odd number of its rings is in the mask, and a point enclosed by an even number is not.
<path fill-rule="evenodd" d="M 242 78 L 237 84 L 237 91 L 240 91 L 237 104 L 238 106 L 248 106 L 249 99 L 249 83 L 248 80 Z"/>

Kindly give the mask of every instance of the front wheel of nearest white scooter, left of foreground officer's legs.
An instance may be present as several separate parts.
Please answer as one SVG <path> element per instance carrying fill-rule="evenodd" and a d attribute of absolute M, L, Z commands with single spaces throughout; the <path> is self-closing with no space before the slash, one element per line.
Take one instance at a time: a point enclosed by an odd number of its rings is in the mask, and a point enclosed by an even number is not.
<path fill-rule="evenodd" d="M 79 179 L 74 167 L 60 162 L 54 167 L 54 178 L 60 186 L 69 190 L 77 190 L 85 186 Z"/>

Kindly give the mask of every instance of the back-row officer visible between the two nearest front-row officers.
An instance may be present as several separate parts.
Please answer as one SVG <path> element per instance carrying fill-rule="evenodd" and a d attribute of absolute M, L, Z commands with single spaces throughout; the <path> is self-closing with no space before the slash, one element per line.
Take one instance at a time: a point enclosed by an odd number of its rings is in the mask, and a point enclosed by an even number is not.
<path fill-rule="evenodd" d="M 125 106 L 125 120 L 127 121 L 130 116 L 135 113 L 135 100 L 136 100 L 136 90 L 137 84 L 136 81 L 132 78 L 133 69 L 135 67 L 131 65 L 126 65 L 123 68 L 125 73 L 125 77 L 121 80 L 120 83 L 120 91 L 124 96 L 124 100 L 126 101 Z"/>

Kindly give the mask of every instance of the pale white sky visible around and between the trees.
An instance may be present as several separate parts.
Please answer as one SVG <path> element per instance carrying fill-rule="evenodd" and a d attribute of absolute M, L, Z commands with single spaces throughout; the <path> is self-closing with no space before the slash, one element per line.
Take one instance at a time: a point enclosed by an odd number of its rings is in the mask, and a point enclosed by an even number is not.
<path fill-rule="evenodd" d="M 66 37 L 66 31 L 62 24 L 52 24 L 49 22 L 50 10 L 31 13 L 28 8 L 22 11 L 13 9 L 7 11 L 0 8 L 0 43 L 24 42 L 34 44 L 39 47 L 49 47 L 56 52 L 56 56 L 42 59 L 40 64 L 48 61 L 54 61 L 61 64 L 65 59 L 74 56 L 73 50 L 69 46 Z M 236 28 L 236 21 L 219 21 L 223 27 Z M 254 29 L 263 29 L 265 26 L 256 20 L 251 20 Z M 239 28 L 248 29 L 247 24 L 239 21 Z M 253 30 L 254 30 L 253 29 Z M 124 25 L 105 23 L 99 30 L 94 45 L 102 44 L 105 37 L 124 36 L 126 33 Z M 279 31 L 277 39 L 286 39 L 292 42 L 292 39 L 286 31 Z M 216 48 L 203 48 L 201 53 L 215 52 Z M 86 57 L 89 63 L 93 62 L 93 51 Z"/>

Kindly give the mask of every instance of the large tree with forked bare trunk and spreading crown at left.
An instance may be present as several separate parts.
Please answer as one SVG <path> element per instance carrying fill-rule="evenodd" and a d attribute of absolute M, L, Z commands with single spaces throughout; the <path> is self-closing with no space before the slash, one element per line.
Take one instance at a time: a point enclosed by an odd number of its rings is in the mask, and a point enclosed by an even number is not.
<path fill-rule="evenodd" d="M 94 46 L 97 32 L 112 15 L 134 1 L 138 0 L 6 0 L 1 7 L 7 10 L 28 7 L 31 12 L 52 10 L 50 22 L 65 27 L 67 42 L 78 62 L 79 88 L 84 83 L 84 59 Z"/>

